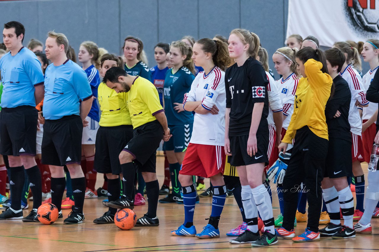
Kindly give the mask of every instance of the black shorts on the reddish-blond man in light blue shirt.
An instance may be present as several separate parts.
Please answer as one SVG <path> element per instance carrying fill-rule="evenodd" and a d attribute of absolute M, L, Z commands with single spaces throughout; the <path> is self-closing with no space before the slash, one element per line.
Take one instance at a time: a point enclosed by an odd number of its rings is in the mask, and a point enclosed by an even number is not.
<path fill-rule="evenodd" d="M 45 120 L 41 163 L 57 166 L 80 164 L 82 134 L 83 122 L 80 116 Z"/>

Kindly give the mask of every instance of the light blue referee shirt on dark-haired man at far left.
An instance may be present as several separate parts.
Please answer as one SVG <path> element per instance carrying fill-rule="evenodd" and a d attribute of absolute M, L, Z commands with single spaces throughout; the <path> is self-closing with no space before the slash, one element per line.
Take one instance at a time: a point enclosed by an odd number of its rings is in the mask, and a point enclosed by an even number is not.
<path fill-rule="evenodd" d="M 15 56 L 8 52 L 0 59 L 0 71 L 3 82 L 0 107 L 36 107 L 34 87 L 44 83 L 41 63 L 37 56 L 25 47 Z"/>

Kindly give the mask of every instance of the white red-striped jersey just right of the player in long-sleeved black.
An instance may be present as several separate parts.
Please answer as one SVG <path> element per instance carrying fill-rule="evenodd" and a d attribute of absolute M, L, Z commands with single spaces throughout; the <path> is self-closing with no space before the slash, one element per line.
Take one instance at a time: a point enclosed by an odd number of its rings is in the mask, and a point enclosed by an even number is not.
<path fill-rule="evenodd" d="M 368 101 L 366 100 L 366 90 L 362 84 L 362 78 L 360 77 L 358 71 L 355 70 L 351 65 L 346 66 L 345 70 L 343 70 L 340 75 L 343 79 L 346 80 L 346 82 L 348 82 L 351 92 L 349 109 L 350 131 L 353 134 L 361 136 L 362 119 L 360 119 L 358 108 L 355 104 L 356 101 L 358 101 L 361 105 L 368 104 Z"/>

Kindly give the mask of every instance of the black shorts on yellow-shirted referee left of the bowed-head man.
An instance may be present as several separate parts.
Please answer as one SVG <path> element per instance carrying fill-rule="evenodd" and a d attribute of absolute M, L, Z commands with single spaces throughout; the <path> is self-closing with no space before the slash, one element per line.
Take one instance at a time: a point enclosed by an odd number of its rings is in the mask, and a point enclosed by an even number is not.
<path fill-rule="evenodd" d="M 120 174 L 119 155 L 132 138 L 132 125 L 100 126 L 96 133 L 94 169 L 99 173 Z"/>

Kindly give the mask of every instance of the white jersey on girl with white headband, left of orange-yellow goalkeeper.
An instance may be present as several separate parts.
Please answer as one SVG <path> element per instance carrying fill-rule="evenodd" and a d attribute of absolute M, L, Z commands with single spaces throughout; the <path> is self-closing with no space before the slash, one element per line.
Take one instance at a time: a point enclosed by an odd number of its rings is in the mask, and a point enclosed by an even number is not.
<path fill-rule="evenodd" d="M 276 81 L 276 85 L 279 90 L 280 100 L 282 101 L 283 106 L 283 115 L 285 119 L 283 121 L 283 128 L 287 130 L 288 125 L 290 125 L 291 116 L 293 113 L 293 104 L 295 102 L 295 93 L 298 88 L 299 79 L 297 79 L 295 73 L 292 73 L 287 79 L 283 80 L 283 77 L 280 80 Z"/>

